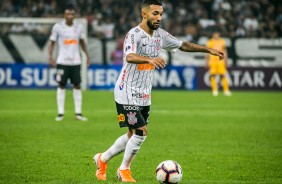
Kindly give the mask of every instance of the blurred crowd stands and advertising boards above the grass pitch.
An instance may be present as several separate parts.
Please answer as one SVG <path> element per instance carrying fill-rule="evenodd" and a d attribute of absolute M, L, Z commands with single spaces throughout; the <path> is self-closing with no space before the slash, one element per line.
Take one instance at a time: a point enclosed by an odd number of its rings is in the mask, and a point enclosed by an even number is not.
<path fill-rule="evenodd" d="M 75 5 L 77 17 L 87 20 L 93 64 L 83 74 L 87 88 L 112 89 L 120 70 L 117 65 L 121 63 L 113 57 L 118 55 L 127 31 L 141 20 L 139 1 L 6 0 L 0 5 L 0 16 L 3 20 L 5 17 L 58 18 L 63 16 L 68 3 Z M 182 40 L 205 45 L 213 31 L 221 32 L 228 46 L 228 78 L 232 90 L 282 89 L 280 1 L 164 1 L 164 10 L 162 27 Z M 1 88 L 56 87 L 55 72 L 49 70 L 47 59 L 52 25 L 0 24 Z M 155 79 L 159 80 L 155 80 L 155 88 L 209 88 L 204 54 L 163 51 L 161 55 L 171 66 L 156 72 Z"/>

